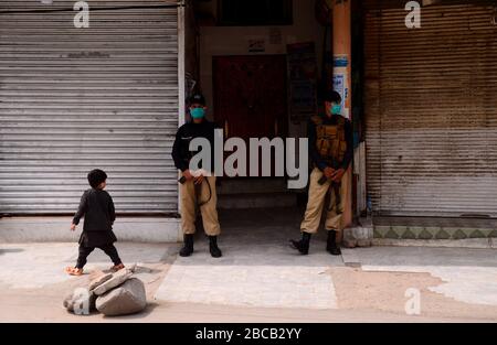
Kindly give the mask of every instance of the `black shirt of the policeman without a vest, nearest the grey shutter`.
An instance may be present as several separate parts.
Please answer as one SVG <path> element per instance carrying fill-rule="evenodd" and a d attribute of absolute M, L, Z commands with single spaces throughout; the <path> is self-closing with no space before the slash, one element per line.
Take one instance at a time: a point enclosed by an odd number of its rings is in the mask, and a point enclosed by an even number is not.
<path fill-rule="evenodd" d="M 205 138 L 211 143 L 211 172 L 214 171 L 214 130 L 215 123 L 205 119 L 200 123 L 193 121 L 187 122 L 178 129 L 175 144 L 172 145 L 172 159 L 175 165 L 182 172 L 189 169 L 190 160 L 195 155 L 194 151 L 190 151 L 190 141 L 194 138 Z M 200 151 L 200 150 L 199 150 Z M 202 166 L 200 166 L 202 168 Z"/>

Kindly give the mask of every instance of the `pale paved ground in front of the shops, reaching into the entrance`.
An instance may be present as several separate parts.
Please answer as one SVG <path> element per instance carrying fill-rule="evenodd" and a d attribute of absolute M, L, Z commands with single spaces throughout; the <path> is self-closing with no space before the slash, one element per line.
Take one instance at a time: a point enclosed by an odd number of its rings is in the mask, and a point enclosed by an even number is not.
<path fill-rule="evenodd" d="M 211 258 L 200 231 L 195 251 L 180 244 L 117 242 L 125 265 L 137 263 L 149 305 L 137 315 L 77 316 L 65 294 L 89 274 L 68 277 L 77 244 L 0 244 L 0 322 L 496 322 L 497 250 L 370 247 L 325 251 L 326 234 L 309 256 L 298 237 L 297 209 L 220 214 L 223 257 Z M 118 236 L 118 234 L 117 234 Z M 112 266 L 95 250 L 87 273 Z"/>

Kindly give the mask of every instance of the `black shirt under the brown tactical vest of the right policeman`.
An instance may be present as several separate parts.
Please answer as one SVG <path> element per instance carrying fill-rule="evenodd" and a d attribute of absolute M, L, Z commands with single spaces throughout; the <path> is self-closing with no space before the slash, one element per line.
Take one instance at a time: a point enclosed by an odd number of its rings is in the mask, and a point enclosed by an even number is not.
<path fill-rule="evenodd" d="M 330 118 L 328 116 L 321 115 L 320 117 L 322 119 L 322 125 L 337 125 L 338 116 L 340 116 L 340 115 L 334 115 Z M 352 155 L 353 155 L 352 125 L 351 125 L 350 120 L 346 119 L 343 130 L 345 130 L 345 136 L 346 136 L 346 141 L 347 141 L 347 151 L 343 155 L 343 161 L 338 162 L 339 163 L 338 168 L 342 168 L 342 169 L 347 170 L 347 168 L 349 168 L 349 164 L 350 164 L 350 162 L 352 160 Z M 311 119 L 309 120 L 308 126 L 307 126 L 307 137 L 309 138 L 310 161 L 317 168 L 319 168 L 319 170 L 322 171 L 329 164 L 319 154 L 318 148 L 316 145 L 316 139 L 317 139 L 316 123 L 314 123 L 314 121 Z M 329 168 L 334 168 L 334 166 L 329 166 Z"/>

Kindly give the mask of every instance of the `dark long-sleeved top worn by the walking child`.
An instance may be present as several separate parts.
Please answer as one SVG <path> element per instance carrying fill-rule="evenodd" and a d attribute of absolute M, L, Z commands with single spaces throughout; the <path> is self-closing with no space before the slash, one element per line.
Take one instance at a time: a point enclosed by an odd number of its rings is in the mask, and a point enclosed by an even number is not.
<path fill-rule="evenodd" d="M 83 231 L 112 231 L 116 212 L 110 195 L 96 188 L 84 192 L 73 223 L 77 225 L 83 216 Z"/>

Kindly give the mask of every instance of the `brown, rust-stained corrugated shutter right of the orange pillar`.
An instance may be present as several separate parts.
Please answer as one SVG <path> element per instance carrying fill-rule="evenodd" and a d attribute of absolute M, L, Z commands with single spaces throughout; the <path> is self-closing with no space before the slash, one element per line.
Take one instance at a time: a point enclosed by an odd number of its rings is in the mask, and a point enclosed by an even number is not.
<path fill-rule="evenodd" d="M 405 1 L 393 2 L 364 1 L 368 193 L 373 211 L 495 217 L 495 8 L 482 2 L 424 7 L 422 28 L 408 30 Z"/>

